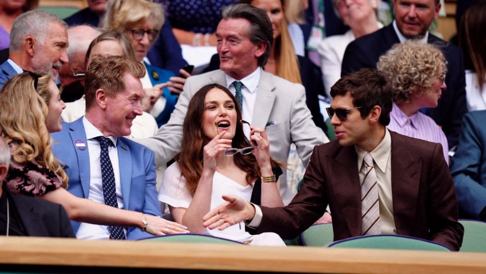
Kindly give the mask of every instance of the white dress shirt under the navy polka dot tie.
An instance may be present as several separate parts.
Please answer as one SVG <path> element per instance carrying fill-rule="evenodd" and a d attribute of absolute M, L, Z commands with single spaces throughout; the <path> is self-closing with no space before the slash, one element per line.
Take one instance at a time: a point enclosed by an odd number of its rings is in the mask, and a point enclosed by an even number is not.
<path fill-rule="evenodd" d="M 103 134 L 91 124 L 86 117 L 83 117 L 84 131 L 86 132 L 86 139 L 88 140 L 88 153 L 89 153 L 89 194 L 88 199 L 98 203 L 105 203 L 103 198 L 103 183 L 101 179 L 101 164 L 100 164 L 100 143 L 94 139 Z M 115 189 L 116 189 L 116 201 L 118 202 L 118 208 L 123 208 L 123 195 L 120 183 L 120 166 L 118 163 L 118 149 L 116 148 L 116 137 L 109 136 L 110 140 L 115 146 L 108 146 L 108 154 L 110 156 L 111 164 L 113 165 L 113 173 L 115 174 Z M 127 230 L 123 229 L 125 237 Z M 88 223 L 81 223 L 76 233 L 76 238 L 84 240 L 108 240 L 110 238 L 110 232 L 108 226 L 94 225 Z"/>

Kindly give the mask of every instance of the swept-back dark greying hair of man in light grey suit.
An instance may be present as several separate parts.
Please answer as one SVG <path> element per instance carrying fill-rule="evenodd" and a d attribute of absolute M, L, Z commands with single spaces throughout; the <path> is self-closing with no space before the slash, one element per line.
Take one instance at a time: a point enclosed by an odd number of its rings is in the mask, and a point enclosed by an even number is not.
<path fill-rule="evenodd" d="M 232 4 L 221 10 L 223 19 L 243 18 L 249 21 L 251 27 L 248 36 L 253 44 L 264 42 L 266 44 L 265 52 L 258 57 L 258 66 L 263 67 L 268 61 L 271 46 L 273 44 L 273 31 L 270 18 L 266 12 L 249 4 Z"/>

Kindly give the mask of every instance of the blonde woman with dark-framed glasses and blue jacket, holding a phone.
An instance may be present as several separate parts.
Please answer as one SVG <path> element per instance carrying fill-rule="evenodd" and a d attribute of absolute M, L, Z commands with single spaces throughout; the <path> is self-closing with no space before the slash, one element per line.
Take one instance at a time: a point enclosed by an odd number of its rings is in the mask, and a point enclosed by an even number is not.
<path fill-rule="evenodd" d="M 169 81 L 173 72 L 151 66 L 144 59 L 158 37 L 164 23 L 164 12 L 158 3 L 146 0 L 110 0 L 99 27 L 125 33 L 133 47 L 135 58 L 146 68 L 142 86 L 145 98 L 143 111 L 150 113 L 160 127 L 169 121 L 175 109 L 177 96 L 172 95 Z M 189 74 L 187 75 L 189 76 Z"/>

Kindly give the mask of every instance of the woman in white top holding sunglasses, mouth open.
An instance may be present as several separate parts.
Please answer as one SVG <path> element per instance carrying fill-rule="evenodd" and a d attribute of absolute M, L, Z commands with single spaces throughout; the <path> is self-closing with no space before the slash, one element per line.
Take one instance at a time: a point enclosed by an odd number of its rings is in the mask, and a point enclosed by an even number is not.
<path fill-rule="evenodd" d="M 240 105 L 227 88 L 202 87 L 189 102 L 181 151 L 164 172 L 159 201 L 167 203 L 174 220 L 192 233 L 284 246 L 274 233 L 250 235 L 243 222 L 223 231 L 203 227 L 203 216 L 224 202 L 224 194 L 267 207 L 283 206 L 277 177 L 282 171 L 270 157 L 266 133 L 250 127 L 248 141 L 241 119 Z"/>

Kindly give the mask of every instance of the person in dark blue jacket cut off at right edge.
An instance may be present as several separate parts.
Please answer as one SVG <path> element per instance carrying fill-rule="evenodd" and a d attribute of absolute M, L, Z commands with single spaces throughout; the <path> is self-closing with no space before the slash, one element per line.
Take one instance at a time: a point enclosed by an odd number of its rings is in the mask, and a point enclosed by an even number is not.
<path fill-rule="evenodd" d="M 456 183 L 459 217 L 486 221 L 486 111 L 464 115 L 451 173 Z"/>

